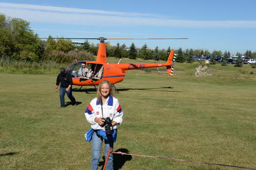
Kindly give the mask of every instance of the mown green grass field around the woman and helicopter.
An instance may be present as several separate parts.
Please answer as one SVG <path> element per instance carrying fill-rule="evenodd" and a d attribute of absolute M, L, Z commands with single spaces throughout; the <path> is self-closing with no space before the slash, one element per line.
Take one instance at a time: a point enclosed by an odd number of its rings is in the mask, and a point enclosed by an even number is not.
<path fill-rule="evenodd" d="M 197 65 L 176 64 L 173 78 L 155 69 L 127 71 L 116 84 L 124 116 L 114 151 L 256 168 L 256 70 L 218 64 L 210 66 L 211 77 L 196 78 Z M 0 169 L 90 169 L 83 112 L 94 87 L 73 92 L 78 106 L 59 108 L 56 76 L 0 74 Z M 136 156 L 115 160 L 116 169 L 239 169 Z"/>

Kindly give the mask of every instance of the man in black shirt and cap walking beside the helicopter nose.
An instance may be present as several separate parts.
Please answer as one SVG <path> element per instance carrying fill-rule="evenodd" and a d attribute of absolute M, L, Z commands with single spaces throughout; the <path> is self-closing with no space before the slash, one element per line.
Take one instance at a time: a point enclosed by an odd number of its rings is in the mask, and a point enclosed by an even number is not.
<path fill-rule="evenodd" d="M 60 83 L 60 87 L 58 89 Z M 65 68 L 60 69 L 60 74 L 58 74 L 56 80 L 56 91 L 59 90 L 59 99 L 60 99 L 60 107 L 65 107 L 65 93 L 67 93 L 69 99 L 72 102 L 72 105 L 77 105 L 74 96 L 72 95 L 72 78 L 71 75 L 66 72 Z"/>

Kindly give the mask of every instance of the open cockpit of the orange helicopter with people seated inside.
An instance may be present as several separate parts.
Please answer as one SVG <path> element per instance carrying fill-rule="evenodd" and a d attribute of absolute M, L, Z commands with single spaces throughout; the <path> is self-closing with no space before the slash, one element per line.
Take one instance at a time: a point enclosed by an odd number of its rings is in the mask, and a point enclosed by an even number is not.
<path fill-rule="evenodd" d="M 92 79 L 93 82 L 103 77 L 103 64 L 75 62 L 67 69 L 72 78 L 80 78 L 80 81 Z"/>

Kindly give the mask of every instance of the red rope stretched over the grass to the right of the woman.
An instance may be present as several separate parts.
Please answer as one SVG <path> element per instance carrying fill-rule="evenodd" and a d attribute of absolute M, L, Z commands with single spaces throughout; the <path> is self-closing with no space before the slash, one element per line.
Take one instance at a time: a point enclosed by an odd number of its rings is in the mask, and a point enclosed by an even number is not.
<path fill-rule="evenodd" d="M 175 158 L 167 158 L 167 157 L 161 157 L 161 156 L 147 156 L 147 155 L 137 155 L 137 154 L 126 154 L 126 153 L 123 153 L 123 152 L 114 152 L 114 151 L 112 151 L 111 153 L 113 153 L 113 154 L 121 154 L 121 155 L 141 156 L 141 157 L 148 157 L 148 158 L 169 159 L 169 160 L 184 161 L 184 162 L 205 163 L 205 164 L 210 164 L 210 165 L 230 166 L 230 167 L 239 167 L 239 168 L 244 168 L 244 169 L 256 170 L 255 168 L 250 168 L 250 167 L 225 165 L 225 164 L 219 164 L 219 163 L 208 163 L 208 162 L 194 161 L 194 160 L 185 160 L 185 159 L 175 159 Z"/>

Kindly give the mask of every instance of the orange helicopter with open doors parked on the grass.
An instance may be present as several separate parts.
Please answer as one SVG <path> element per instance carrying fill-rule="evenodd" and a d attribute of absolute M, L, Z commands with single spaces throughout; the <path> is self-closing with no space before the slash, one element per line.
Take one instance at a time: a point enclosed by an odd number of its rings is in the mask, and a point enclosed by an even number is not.
<path fill-rule="evenodd" d="M 58 39 L 58 38 L 56 38 Z M 77 86 L 94 86 L 98 85 L 102 80 L 108 80 L 113 85 L 121 82 L 126 70 L 142 69 L 151 67 L 166 66 L 167 74 L 172 75 L 173 61 L 175 61 L 174 50 L 170 51 L 166 63 L 129 63 L 129 64 L 109 64 L 106 62 L 106 46 L 104 40 L 120 40 L 120 39 L 187 39 L 187 38 L 69 38 L 69 39 L 97 39 L 100 41 L 96 61 L 74 61 L 66 69 L 72 76 L 73 84 Z M 80 87 L 80 89 L 81 89 Z"/>

